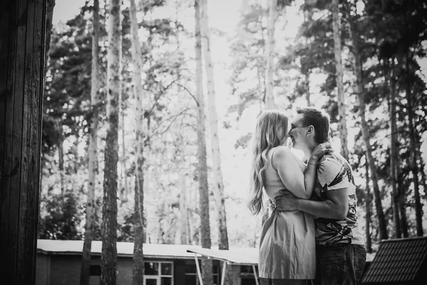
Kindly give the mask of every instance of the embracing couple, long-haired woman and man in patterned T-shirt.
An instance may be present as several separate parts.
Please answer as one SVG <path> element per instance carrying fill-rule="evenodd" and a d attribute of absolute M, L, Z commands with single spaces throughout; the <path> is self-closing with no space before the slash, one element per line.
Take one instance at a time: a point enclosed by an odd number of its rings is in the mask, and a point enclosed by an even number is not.
<path fill-rule="evenodd" d="M 259 276 L 263 285 L 359 284 L 366 259 L 358 228 L 354 177 L 349 162 L 332 151 L 330 117 L 317 108 L 297 108 L 288 117 L 262 113 L 253 137 L 253 214 L 263 207 L 263 189 L 273 213 L 263 224 Z M 307 164 L 286 146 L 302 150 Z"/>

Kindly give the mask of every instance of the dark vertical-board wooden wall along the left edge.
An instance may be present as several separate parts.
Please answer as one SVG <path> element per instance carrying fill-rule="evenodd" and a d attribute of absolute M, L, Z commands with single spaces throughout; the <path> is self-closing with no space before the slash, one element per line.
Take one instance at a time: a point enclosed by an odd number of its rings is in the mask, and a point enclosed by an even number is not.
<path fill-rule="evenodd" d="M 0 0 L 1 284 L 34 284 L 46 0 Z"/>

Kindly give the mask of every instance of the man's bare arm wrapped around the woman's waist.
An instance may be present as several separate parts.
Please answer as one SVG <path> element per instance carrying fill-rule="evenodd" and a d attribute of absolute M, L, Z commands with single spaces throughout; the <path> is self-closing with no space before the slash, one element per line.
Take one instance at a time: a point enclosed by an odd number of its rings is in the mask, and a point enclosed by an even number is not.
<path fill-rule="evenodd" d="M 290 194 L 281 195 L 276 197 L 275 204 L 278 210 L 300 210 L 315 217 L 345 219 L 349 207 L 348 187 L 329 190 L 325 195 L 327 198 L 325 201 L 298 199 Z"/>

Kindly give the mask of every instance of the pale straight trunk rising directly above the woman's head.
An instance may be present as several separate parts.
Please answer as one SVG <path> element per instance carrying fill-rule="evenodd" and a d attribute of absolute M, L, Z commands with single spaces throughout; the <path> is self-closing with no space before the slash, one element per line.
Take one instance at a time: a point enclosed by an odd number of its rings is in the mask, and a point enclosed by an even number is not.
<path fill-rule="evenodd" d="M 268 0 L 268 41 L 267 41 L 267 68 L 265 69 L 265 108 L 275 109 L 273 93 L 274 49 L 275 49 L 275 24 L 278 19 L 278 0 Z"/>

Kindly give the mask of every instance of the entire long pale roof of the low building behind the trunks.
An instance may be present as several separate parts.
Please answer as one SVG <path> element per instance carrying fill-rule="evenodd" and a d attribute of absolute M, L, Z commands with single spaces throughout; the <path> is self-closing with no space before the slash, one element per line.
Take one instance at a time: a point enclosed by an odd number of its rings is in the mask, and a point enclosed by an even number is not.
<path fill-rule="evenodd" d="M 132 257 L 133 242 L 117 242 L 117 256 Z M 186 244 L 144 244 L 144 257 L 162 259 L 194 259 L 194 254 L 201 254 L 214 259 L 227 260 L 235 264 L 257 264 L 258 249 L 233 247 L 230 250 L 218 248 L 201 249 L 199 246 Z M 93 241 L 91 252 L 100 255 L 102 242 Z M 37 252 L 41 254 L 80 255 L 83 252 L 83 241 L 38 239 Z"/>

